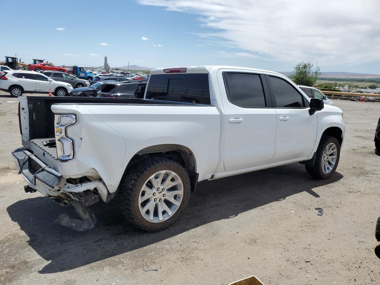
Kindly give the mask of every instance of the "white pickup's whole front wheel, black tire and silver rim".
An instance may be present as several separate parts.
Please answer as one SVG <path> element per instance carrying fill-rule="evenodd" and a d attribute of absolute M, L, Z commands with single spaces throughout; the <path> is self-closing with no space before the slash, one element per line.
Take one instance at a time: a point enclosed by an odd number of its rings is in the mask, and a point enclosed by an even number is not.
<path fill-rule="evenodd" d="M 306 166 L 309 175 L 318 179 L 328 179 L 335 173 L 339 163 L 340 144 L 333 136 L 322 136 L 313 166 Z"/>

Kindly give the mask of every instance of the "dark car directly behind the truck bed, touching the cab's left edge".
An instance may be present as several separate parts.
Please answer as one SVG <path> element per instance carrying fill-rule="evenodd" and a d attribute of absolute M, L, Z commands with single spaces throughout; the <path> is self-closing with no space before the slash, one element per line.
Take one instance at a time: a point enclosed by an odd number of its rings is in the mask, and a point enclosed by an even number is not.
<path fill-rule="evenodd" d="M 97 97 L 144 98 L 146 81 L 111 82 L 98 91 Z"/>

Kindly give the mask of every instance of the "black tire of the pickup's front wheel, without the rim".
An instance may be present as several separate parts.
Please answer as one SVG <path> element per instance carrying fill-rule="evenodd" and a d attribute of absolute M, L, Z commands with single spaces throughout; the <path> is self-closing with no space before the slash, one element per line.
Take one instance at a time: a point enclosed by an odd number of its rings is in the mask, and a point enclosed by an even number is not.
<path fill-rule="evenodd" d="M 325 148 L 328 146 L 328 144 L 334 143 L 336 145 L 337 149 L 337 156 L 336 156 L 336 162 L 330 173 L 324 173 L 322 171 L 322 156 L 323 156 L 323 151 Z M 332 174 L 335 173 L 336 168 L 339 163 L 339 156 L 340 156 L 340 144 L 339 141 L 333 137 L 333 136 L 322 136 L 321 141 L 319 142 L 319 146 L 316 152 L 316 157 L 315 157 L 315 163 L 313 166 L 305 166 L 307 174 L 311 175 L 314 178 L 318 179 L 328 179 L 332 176 Z"/>

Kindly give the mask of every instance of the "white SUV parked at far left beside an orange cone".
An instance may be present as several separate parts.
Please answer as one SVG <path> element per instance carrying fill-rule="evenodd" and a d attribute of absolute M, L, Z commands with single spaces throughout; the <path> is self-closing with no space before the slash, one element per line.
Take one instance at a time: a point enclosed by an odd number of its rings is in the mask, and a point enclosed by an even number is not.
<path fill-rule="evenodd" d="M 9 92 L 13 97 L 23 93 L 49 93 L 55 96 L 68 96 L 73 86 L 53 79 L 35 71 L 10 70 L 0 73 L 0 90 Z"/>

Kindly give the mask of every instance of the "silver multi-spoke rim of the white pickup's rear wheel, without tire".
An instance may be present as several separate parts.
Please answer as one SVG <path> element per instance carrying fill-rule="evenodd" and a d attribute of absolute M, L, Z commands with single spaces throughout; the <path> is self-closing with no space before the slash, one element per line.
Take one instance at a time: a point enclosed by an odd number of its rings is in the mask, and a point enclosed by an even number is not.
<path fill-rule="evenodd" d="M 183 194 L 182 180 L 175 172 L 158 171 L 145 181 L 140 190 L 140 213 L 149 222 L 163 222 L 179 209 Z"/>

